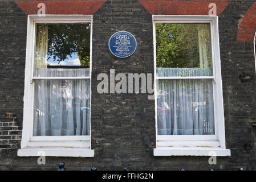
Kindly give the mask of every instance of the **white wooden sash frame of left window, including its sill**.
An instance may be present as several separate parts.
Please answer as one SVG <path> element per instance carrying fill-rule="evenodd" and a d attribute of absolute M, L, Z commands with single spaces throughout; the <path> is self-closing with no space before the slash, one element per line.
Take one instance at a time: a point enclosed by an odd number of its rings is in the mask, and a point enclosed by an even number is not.
<path fill-rule="evenodd" d="M 90 38 L 90 76 L 85 77 L 35 77 L 34 47 L 36 23 L 91 23 Z M 34 110 L 34 80 L 37 79 L 90 79 L 92 69 L 92 15 L 28 15 L 27 47 L 25 67 L 25 92 L 21 149 L 18 156 L 38 156 L 43 151 L 45 156 L 93 157 L 91 149 L 91 111 L 90 135 L 86 136 L 36 136 L 32 135 Z M 90 93 L 91 95 L 91 93 Z M 90 98 L 91 105 L 91 98 Z M 39 153 L 38 153 L 39 152 Z M 42 154 L 40 154 L 42 155 Z"/>

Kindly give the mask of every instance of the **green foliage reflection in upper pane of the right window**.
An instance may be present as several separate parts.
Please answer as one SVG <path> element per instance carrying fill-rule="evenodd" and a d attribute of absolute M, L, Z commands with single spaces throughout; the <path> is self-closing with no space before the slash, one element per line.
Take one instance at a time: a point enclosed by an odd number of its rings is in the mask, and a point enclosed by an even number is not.
<path fill-rule="evenodd" d="M 211 60 L 209 24 L 156 23 L 157 67 L 200 67 L 198 35 L 204 39 L 207 57 Z"/>

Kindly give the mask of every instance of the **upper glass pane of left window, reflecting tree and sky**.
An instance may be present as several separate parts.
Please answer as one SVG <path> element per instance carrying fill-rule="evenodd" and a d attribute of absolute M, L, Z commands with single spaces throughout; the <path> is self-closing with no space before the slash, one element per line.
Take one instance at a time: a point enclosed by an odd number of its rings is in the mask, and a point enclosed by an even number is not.
<path fill-rule="evenodd" d="M 90 26 L 36 23 L 34 76 L 89 76 Z"/>

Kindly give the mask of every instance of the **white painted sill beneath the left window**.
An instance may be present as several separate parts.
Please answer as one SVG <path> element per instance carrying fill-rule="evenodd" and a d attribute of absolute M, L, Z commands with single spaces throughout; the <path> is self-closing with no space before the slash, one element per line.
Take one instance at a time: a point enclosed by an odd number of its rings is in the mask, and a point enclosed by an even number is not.
<path fill-rule="evenodd" d="M 43 153 L 44 152 L 44 153 Z M 83 147 L 27 147 L 18 150 L 18 156 L 56 156 L 93 158 L 94 150 Z"/>

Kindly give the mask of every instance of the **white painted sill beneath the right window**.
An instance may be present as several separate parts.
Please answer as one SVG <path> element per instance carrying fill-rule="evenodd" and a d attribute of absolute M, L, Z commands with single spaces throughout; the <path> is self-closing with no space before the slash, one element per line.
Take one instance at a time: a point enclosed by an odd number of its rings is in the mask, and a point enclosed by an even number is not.
<path fill-rule="evenodd" d="M 157 148 L 154 148 L 154 156 L 230 156 L 230 155 L 231 154 L 229 149 L 224 149 L 220 147 L 157 147 Z"/>

